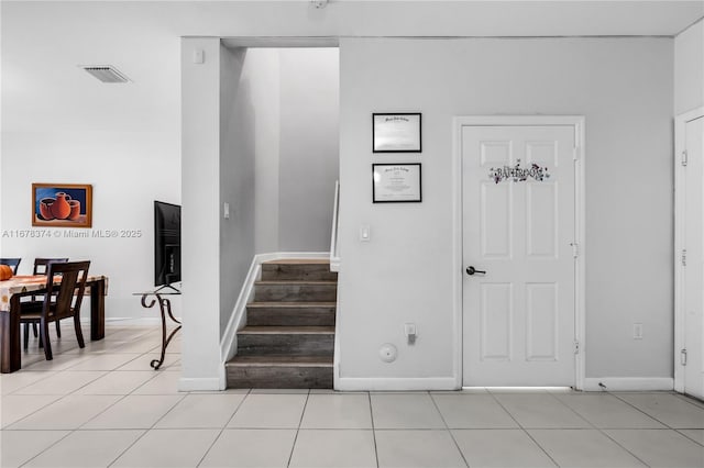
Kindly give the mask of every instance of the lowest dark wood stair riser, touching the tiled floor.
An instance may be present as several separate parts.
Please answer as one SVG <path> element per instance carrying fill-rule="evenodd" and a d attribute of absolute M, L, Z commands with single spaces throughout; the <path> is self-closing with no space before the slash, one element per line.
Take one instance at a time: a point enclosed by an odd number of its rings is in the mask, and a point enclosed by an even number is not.
<path fill-rule="evenodd" d="M 228 366 L 228 388 L 331 389 L 332 367 Z"/>

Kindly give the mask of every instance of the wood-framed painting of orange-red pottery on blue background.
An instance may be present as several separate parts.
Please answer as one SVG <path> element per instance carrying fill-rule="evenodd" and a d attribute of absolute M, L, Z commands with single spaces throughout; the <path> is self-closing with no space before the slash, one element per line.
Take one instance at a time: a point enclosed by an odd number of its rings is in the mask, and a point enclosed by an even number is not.
<path fill-rule="evenodd" d="M 32 183 L 32 225 L 91 227 L 92 186 Z"/>

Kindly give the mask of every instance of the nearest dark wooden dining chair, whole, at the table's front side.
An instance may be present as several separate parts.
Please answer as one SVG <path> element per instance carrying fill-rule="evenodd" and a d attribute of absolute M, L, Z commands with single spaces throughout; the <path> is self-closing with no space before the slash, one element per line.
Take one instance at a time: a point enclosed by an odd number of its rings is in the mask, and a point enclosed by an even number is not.
<path fill-rule="evenodd" d="M 86 290 L 90 261 L 50 263 L 46 268 L 46 291 L 41 302 L 20 304 L 20 323 L 40 325 L 40 344 L 44 345 L 46 360 L 52 360 L 52 345 L 48 339 L 48 324 L 62 319 L 74 317 L 74 328 L 78 346 L 86 346 L 80 330 L 80 303 Z M 54 279 L 61 275 L 61 283 Z M 52 291 L 56 292 L 55 294 Z M 41 307 L 40 307 L 41 304 Z M 29 343 L 29 330 L 24 328 L 24 349 Z"/>

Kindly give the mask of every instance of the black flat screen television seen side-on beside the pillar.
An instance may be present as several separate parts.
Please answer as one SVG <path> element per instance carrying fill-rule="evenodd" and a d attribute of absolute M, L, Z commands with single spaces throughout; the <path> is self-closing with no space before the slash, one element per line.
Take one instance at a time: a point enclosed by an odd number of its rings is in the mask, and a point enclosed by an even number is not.
<path fill-rule="evenodd" d="M 180 281 L 180 205 L 154 201 L 154 286 Z"/>

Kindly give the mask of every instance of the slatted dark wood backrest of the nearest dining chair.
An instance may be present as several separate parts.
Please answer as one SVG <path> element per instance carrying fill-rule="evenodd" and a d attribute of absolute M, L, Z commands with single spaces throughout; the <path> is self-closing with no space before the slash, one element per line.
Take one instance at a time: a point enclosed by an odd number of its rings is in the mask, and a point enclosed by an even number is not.
<path fill-rule="evenodd" d="M 44 316 L 53 315 L 56 319 L 63 319 L 80 311 L 90 261 L 48 263 L 46 290 L 53 291 L 56 289 L 58 292 L 56 296 L 44 296 L 44 305 L 42 308 Z M 54 287 L 54 280 L 58 275 L 61 275 L 61 285 Z"/>

